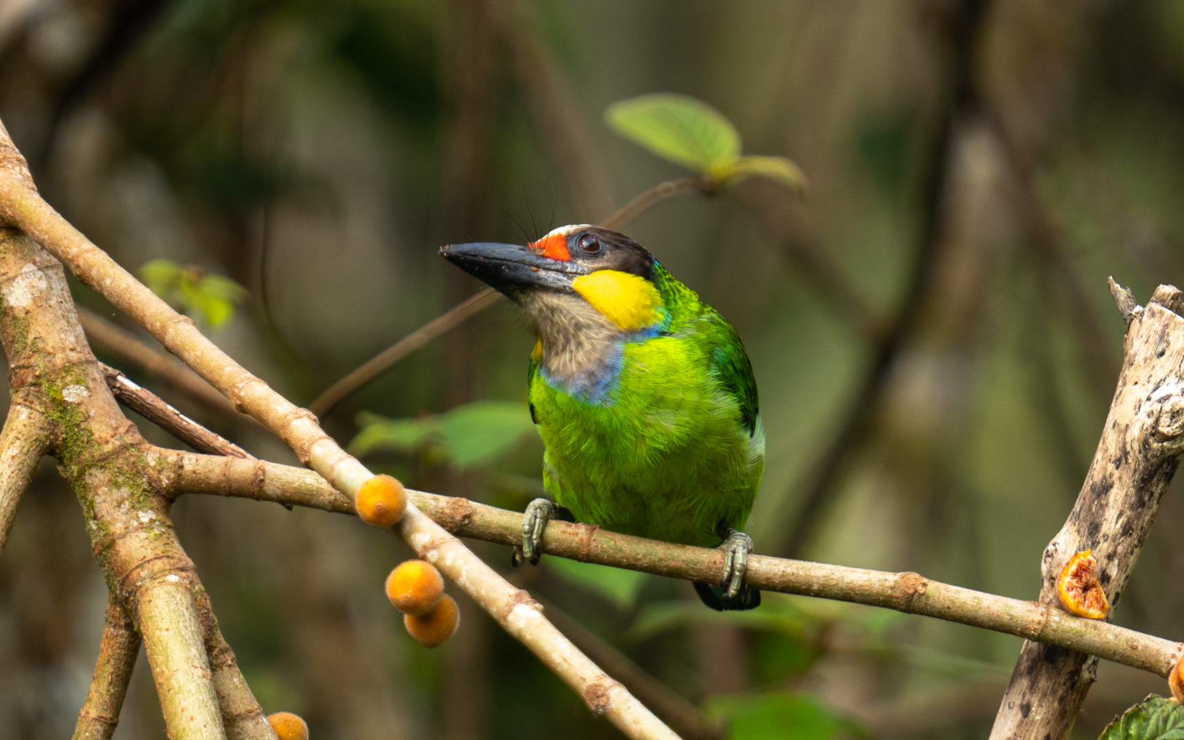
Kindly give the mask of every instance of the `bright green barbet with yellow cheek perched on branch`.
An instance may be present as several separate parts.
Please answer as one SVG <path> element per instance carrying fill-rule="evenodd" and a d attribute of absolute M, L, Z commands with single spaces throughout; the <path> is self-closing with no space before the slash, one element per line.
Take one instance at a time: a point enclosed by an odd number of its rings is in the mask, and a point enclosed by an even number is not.
<path fill-rule="evenodd" d="M 564 226 L 527 246 L 440 253 L 514 300 L 539 336 L 530 416 L 555 503 L 613 532 L 720 546 L 723 575 L 696 583 L 700 598 L 716 610 L 759 605 L 760 592 L 744 585 L 752 540 L 740 529 L 765 469 L 765 431 L 735 329 L 607 229 Z M 546 498 L 527 507 L 516 562 L 538 562 L 556 514 Z"/>

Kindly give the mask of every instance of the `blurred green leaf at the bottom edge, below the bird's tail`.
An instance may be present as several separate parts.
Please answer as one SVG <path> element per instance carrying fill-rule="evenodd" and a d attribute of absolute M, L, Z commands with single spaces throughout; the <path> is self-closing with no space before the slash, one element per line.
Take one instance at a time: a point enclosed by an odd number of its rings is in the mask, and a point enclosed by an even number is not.
<path fill-rule="evenodd" d="M 728 722 L 731 740 L 830 740 L 839 733 L 867 734 L 806 693 L 715 696 L 707 700 L 706 710 L 708 716 Z"/>

